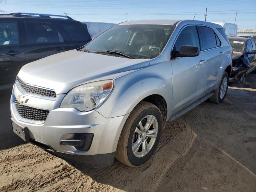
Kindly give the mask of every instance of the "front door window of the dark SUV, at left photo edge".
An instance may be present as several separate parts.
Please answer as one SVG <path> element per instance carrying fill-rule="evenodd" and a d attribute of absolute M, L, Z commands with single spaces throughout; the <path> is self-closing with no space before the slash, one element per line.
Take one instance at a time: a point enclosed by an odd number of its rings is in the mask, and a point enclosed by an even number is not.
<path fill-rule="evenodd" d="M 16 22 L 0 22 L 0 45 L 19 44 L 19 32 Z"/>

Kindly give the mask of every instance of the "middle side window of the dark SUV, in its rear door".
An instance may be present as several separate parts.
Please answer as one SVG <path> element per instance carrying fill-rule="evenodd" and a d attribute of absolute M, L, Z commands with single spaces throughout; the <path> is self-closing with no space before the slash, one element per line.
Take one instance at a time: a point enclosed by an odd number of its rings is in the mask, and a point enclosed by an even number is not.
<path fill-rule="evenodd" d="M 24 24 L 27 40 L 30 44 L 63 41 L 60 34 L 48 22 L 24 22 Z"/>

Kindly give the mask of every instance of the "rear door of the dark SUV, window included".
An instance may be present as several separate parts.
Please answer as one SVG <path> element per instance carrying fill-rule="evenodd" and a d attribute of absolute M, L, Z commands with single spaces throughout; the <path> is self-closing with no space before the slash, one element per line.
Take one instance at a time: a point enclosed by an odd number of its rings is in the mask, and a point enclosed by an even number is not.
<path fill-rule="evenodd" d="M 27 63 L 67 50 L 67 43 L 51 22 L 25 20 L 24 28 Z"/>

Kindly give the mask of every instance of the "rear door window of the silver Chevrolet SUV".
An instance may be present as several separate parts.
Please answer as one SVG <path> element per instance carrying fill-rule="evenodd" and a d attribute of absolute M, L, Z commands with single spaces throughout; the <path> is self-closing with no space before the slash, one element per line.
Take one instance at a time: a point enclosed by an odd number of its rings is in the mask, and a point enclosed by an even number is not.
<path fill-rule="evenodd" d="M 198 26 L 204 50 L 217 47 L 214 31 L 209 27 Z"/>

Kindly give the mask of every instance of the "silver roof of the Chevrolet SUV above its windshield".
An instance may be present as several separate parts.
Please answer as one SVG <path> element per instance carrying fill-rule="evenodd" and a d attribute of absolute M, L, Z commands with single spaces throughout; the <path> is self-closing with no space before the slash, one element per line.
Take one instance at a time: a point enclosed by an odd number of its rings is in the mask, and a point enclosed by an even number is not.
<path fill-rule="evenodd" d="M 118 25 L 127 24 L 157 24 L 157 25 L 174 25 L 178 23 L 180 19 L 152 19 L 152 20 L 136 20 L 136 21 L 125 21 Z"/>

